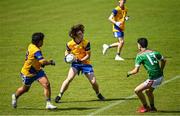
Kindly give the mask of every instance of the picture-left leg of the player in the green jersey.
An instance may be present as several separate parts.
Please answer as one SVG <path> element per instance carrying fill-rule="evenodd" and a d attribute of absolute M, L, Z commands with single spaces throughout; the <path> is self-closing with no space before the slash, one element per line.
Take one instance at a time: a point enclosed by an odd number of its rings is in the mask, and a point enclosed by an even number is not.
<path fill-rule="evenodd" d="M 134 90 L 134 92 L 136 93 L 136 95 L 140 99 L 141 103 L 143 104 L 143 106 L 138 109 L 138 112 L 143 113 L 143 112 L 147 112 L 149 110 L 145 95 L 143 94 L 143 91 L 148 89 L 148 88 L 149 88 L 149 86 L 144 84 L 144 82 L 143 82 L 140 85 L 138 85 Z"/>

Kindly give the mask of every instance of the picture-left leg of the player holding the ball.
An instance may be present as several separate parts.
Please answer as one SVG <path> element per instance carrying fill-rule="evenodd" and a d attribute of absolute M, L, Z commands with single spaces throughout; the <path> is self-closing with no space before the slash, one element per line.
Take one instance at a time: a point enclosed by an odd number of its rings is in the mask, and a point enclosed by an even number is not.
<path fill-rule="evenodd" d="M 59 100 L 61 100 L 61 97 L 63 96 L 64 92 L 68 89 L 70 82 L 74 79 L 74 77 L 76 76 L 77 72 L 78 72 L 78 70 L 76 68 L 74 68 L 74 67 L 71 67 L 69 69 L 68 76 L 63 81 L 63 83 L 61 85 L 60 93 L 55 98 L 55 102 L 56 103 L 58 103 Z"/>

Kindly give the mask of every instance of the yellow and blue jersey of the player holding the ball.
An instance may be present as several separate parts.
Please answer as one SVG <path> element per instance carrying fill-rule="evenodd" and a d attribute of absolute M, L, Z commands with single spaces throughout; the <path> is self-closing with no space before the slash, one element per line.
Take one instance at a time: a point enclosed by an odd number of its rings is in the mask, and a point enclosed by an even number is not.
<path fill-rule="evenodd" d="M 66 44 L 66 49 L 74 54 L 77 59 L 82 59 L 90 53 L 90 42 L 83 39 L 81 43 L 77 44 L 74 40 L 71 40 Z M 90 64 L 90 59 L 83 61 L 83 64 Z"/>

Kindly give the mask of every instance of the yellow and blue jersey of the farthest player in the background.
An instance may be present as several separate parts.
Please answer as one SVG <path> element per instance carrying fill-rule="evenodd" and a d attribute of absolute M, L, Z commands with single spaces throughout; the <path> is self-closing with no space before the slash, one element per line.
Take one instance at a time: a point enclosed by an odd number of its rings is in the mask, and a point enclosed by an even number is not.
<path fill-rule="evenodd" d="M 120 27 L 113 24 L 113 32 L 124 31 L 124 29 L 125 29 L 125 17 L 126 17 L 126 14 L 127 14 L 127 8 L 124 7 L 124 9 L 121 9 L 119 6 L 117 6 L 116 8 L 113 9 L 112 13 L 114 15 L 114 17 L 113 17 L 114 21 L 122 22 Z"/>

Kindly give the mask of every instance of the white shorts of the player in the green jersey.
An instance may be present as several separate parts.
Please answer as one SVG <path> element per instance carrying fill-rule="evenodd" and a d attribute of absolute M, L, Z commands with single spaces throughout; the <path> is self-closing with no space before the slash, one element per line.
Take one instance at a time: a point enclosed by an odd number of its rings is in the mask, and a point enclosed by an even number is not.
<path fill-rule="evenodd" d="M 155 79 L 155 80 L 150 80 L 150 79 L 147 79 L 145 82 L 144 82 L 144 85 L 145 86 L 150 86 L 152 88 L 157 88 L 157 86 L 159 86 L 163 81 L 163 76 Z"/>

